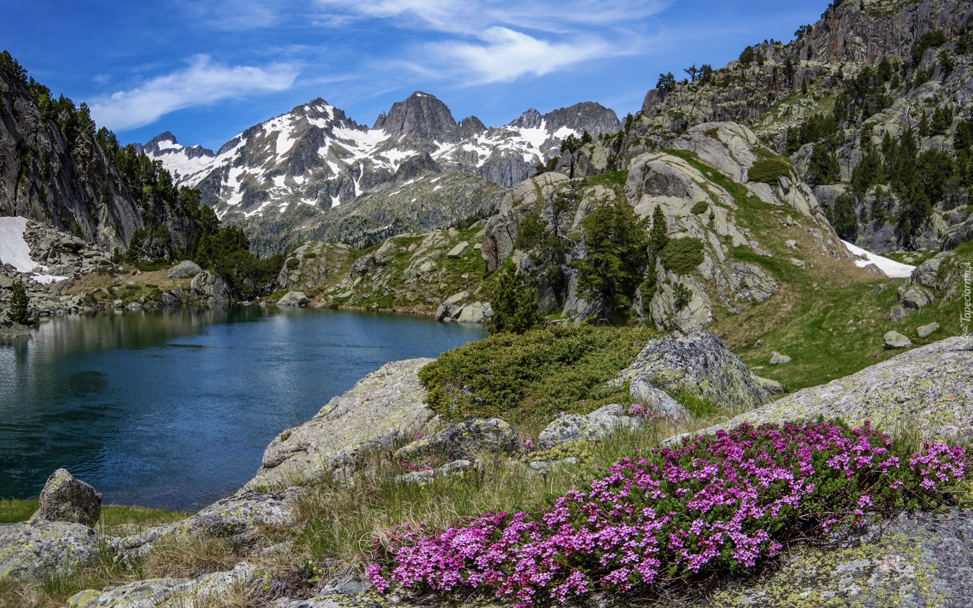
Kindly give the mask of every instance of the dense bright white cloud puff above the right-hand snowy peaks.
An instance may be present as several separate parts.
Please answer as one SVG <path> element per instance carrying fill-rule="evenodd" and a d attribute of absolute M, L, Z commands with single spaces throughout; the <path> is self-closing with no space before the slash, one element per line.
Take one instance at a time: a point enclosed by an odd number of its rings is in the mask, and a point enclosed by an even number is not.
<path fill-rule="evenodd" d="M 598 56 L 608 47 L 598 39 L 552 44 L 500 26 L 487 28 L 480 39 L 483 44 L 453 41 L 429 46 L 434 54 L 451 60 L 454 69 L 471 73 L 476 84 L 510 82 L 524 74 L 542 76 Z"/>

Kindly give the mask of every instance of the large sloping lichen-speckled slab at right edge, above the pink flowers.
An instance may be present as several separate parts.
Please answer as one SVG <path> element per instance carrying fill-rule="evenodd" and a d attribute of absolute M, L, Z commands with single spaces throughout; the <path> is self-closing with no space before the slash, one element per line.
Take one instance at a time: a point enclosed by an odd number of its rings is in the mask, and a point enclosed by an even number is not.
<path fill-rule="evenodd" d="M 973 337 L 957 336 L 914 348 L 706 431 L 818 415 L 840 416 L 852 425 L 871 420 L 887 430 L 909 425 L 928 436 L 955 440 L 973 437 Z"/>

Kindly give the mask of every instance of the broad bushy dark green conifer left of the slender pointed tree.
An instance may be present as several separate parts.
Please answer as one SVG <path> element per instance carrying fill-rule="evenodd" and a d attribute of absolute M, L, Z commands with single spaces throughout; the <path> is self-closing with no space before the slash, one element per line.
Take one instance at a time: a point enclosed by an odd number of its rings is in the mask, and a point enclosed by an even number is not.
<path fill-rule="evenodd" d="M 595 209 L 584 220 L 585 257 L 571 267 L 578 270 L 578 294 L 599 302 L 604 318 L 618 320 L 628 313 L 648 262 L 649 239 L 628 202 Z"/>

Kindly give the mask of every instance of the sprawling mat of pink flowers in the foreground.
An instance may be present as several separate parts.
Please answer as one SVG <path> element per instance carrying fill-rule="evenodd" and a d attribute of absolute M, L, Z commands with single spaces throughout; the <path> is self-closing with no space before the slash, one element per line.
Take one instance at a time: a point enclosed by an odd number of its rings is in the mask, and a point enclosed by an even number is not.
<path fill-rule="evenodd" d="M 489 513 L 434 534 L 400 526 L 387 544 L 376 541 L 387 568 L 372 564 L 368 574 L 379 591 L 486 587 L 529 606 L 752 566 L 809 524 L 861 521 L 910 497 L 935 503 L 937 483 L 966 475 L 961 447 L 895 449 L 868 424 L 742 425 L 636 452 L 534 511 Z"/>

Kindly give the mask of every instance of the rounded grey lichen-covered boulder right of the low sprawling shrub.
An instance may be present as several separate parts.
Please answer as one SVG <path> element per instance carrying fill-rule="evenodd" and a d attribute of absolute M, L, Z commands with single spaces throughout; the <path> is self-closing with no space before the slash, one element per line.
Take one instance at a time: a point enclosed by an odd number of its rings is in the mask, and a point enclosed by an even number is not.
<path fill-rule="evenodd" d="M 641 380 L 669 395 L 698 395 L 727 408 L 749 409 L 768 401 L 757 376 L 709 333 L 649 340 L 614 383 L 625 380 Z"/>

